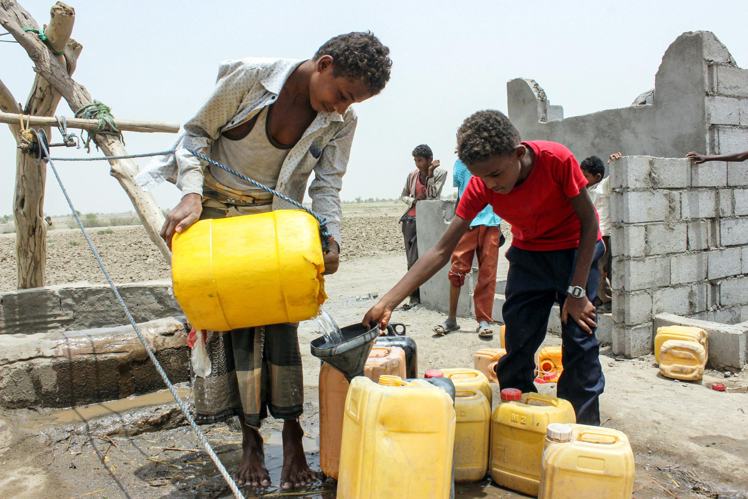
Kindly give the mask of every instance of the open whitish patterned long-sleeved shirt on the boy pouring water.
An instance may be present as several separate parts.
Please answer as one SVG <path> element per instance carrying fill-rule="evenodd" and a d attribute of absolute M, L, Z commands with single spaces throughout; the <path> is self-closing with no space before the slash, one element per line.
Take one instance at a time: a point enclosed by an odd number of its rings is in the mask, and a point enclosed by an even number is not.
<path fill-rule="evenodd" d="M 150 190 L 169 180 L 182 190 L 183 196 L 190 193 L 202 195 L 203 168 L 206 165 L 187 150 L 211 157 L 213 143 L 221 133 L 251 120 L 262 108 L 275 102 L 286 79 L 303 62 L 270 58 L 222 62 L 212 94 L 197 114 L 185 123 L 185 131 L 171 147 L 177 149 L 177 153 L 153 159 L 135 177 L 135 182 Z M 311 209 L 327 218 L 328 230 L 337 242 L 340 242 L 342 215 L 340 188 L 357 121 L 352 107 L 343 116 L 337 112 L 319 111 L 286 156 L 275 189 L 301 203 L 313 170 L 314 180 L 309 186 Z M 275 197 L 273 209 L 295 209 L 295 206 Z"/>

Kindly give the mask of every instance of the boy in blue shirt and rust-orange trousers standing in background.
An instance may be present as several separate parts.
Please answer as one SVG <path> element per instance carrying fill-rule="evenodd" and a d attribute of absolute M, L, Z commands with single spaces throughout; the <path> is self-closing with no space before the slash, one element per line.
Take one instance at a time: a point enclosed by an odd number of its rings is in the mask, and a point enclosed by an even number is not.
<path fill-rule="evenodd" d="M 460 203 L 462 193 L 468 187 L 470 177 L 473 177 L 459 159 L 455 162 L 452 173 L 453 186 L 457 190 L 457 204 Z M 465 284 L 465 275 L 473 267 L 473 255 L 478 257 L 478 284 L 473 293 L 473 304 L 475 305 L 475 318 L 478 321 L 476 332 L 482 337 L 491 337 L 494 331 L 491 329 L 491 313 L 494 309 L 494 295 L 496 294 L 496 267 L 499 260 L 499 248 L 506 239 L 499 228 L 501 218 L 489 204 L 476 218 L 470 222 L 468 232 L 462 236 L 457 248 L 452 254 L 452 268 L 450 269 L 450 316 L 447 320 L 434 328 L 437 334 L 446 334 L 450 331 L 458 331 L 457 304 L 460 299 L 460 290 Z"/>

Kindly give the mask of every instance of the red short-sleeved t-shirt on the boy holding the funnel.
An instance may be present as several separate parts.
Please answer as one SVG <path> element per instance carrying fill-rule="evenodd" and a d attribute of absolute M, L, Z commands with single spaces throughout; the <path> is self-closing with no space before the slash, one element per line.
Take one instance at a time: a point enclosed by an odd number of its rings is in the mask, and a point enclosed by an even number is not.
<path fill-rule="evenodd" d="M 530 251 L 579 247 L 580 223 L 571 202 L 587 185 L 579 163 L 565 146 L 549 141 L 522 142 L 532 147 L 530 174 L 509 194 L 491 191 L 478 177 L 462 193 L 457 215 L 472 220 L 490 204 L 512 225 L 512 245 Z M 598 230 L 598 240 L 602 234 Z"/>

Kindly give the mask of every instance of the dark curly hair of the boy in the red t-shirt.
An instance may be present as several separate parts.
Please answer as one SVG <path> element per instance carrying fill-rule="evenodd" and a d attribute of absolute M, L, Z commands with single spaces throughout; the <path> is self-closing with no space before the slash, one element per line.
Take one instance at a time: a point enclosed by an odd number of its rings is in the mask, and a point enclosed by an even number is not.
<path fill-rule="evenodd" d="M 484 109 L 465 118 L 457 130 L 457 156 L 466 166 L 512 153 L 520 142 L 519 132 L 501 111 Z"/>

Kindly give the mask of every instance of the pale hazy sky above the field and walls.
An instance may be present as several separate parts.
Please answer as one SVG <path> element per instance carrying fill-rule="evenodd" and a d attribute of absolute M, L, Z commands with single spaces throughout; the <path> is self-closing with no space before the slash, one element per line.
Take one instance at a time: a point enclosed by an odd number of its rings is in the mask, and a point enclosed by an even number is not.
<path fill-rule="evenodd" d="M 40 24 L 52 0 L 22 0 Z M 83 45 L 73 77 L 115 117 L 184 123 L 209 95 L 219 61 L 309 58 L 328 38 L 373 31 L 390 47 L 392 79 L 355 105 L 358 129 L 343 200 L 396 198 L 414 168 L 411 150 L 429 144 L 450 170 L 455 132 L 482 108 L 506 112 L 506 82 L 535 79 L 565 116 L 624 107 L 654 86 L 662 55 L 684 31 L 714 31 L 747 67 L 743 1 L 90 1 L 76 9 Z M 7 40 L 9 37 L 3 37 Z M 34 73 L 16 43 L 0 43 L 0 79 L 25 102 Z M 72 116 L 66 102 L 59 114 Z M 15 142 L 0 126 L 0 215 L 12 212 Z M 129 153 L 165 150 L 175 135 L 126 132 Z M 52 141 L 59 141 L 56 130 Z M 600 151 L 599 155 L 611 151 Z M 684 153 L 687 151 L 684 151 Z M 85 150 L 54 150 L 76 156 Z M 99 153 L 100 155 L 100 153 Z M 137 160 L 145 165 L 146 160 Z M 106 162 L 59 162 L 81 212 L 122 212 L 132 204 Z M 153 190 L 163 209 L 180 192 Z M 51 172 L 45 212 L 68 212 Z"/>

